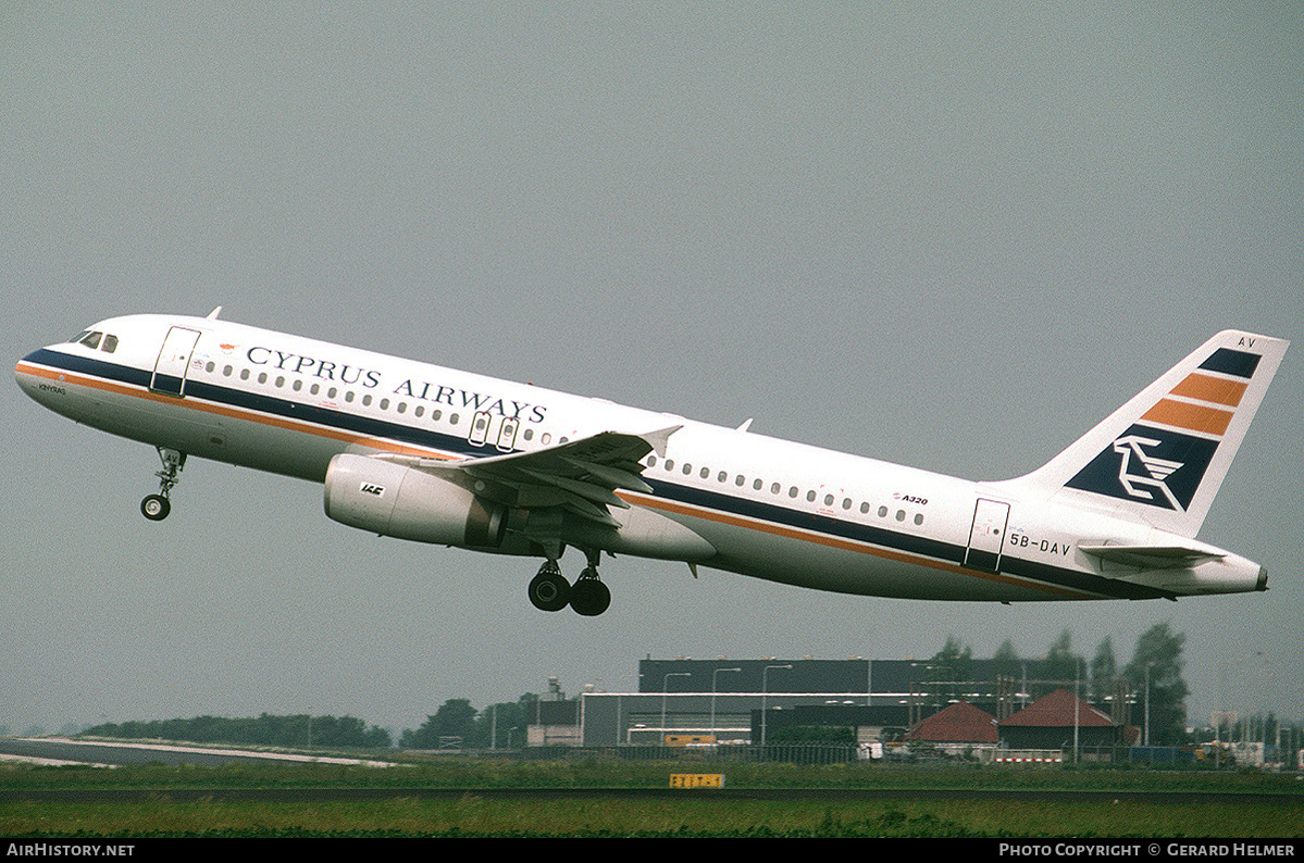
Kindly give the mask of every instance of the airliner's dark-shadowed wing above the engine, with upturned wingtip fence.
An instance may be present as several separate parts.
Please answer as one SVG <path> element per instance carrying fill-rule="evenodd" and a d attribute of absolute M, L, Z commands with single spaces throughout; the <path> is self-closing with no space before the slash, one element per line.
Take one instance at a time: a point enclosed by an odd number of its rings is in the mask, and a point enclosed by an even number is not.
<path fill-rule="evenodd" d="M 482 459 L 376 458 L 439 473 L 480 497 L 506 506 L 529 510 L 559 507 L 597 524 L 618 528 L 621 523 L 608 507 L 629 508 L 629 505 L 615 495 L 615 490 L 652 491 L 640 476 L 640 460 L 652 451 L 664 455 L 666 441 L 681 428 L 675 425 L 645 434 L 602 432 L 545 450 Z"/>

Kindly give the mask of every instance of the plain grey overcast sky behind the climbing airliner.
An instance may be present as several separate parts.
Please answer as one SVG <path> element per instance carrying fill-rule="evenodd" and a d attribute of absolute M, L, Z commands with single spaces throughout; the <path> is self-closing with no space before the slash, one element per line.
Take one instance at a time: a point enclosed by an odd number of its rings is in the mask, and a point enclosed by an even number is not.
<path fill-rule="evenodd" d="M 898 8 L 898 5 L 905 8 Z M 0 724 L 638 687 L 644 656 L 1090 658 L 1167 621 L 1192 721 L 1304 714 L 1300 3 L 13 4 L 10 360 L 223 317 L 953 473 L 1030 471 L 1224 327 L 1296 342 L 1201 538 L 1262 594 L 979 605 L 381 540 L 17 386 Z M 579 561 L 567 555 L 567 570 Z"/>

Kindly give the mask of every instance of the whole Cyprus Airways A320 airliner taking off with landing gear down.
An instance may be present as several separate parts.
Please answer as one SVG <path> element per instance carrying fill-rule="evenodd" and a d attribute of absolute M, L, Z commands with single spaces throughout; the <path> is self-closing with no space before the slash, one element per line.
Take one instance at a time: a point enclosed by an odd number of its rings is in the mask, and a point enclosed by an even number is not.
<path fill-rule="evenodd" d="M 1031 473 L 973 482 L 219 319 L 96 323 L 18 361 L 27 395 L 186 456 L 325 484 L 381 536 L 542 558 L 535 606 L 606 610 L 602 551 L 926 600 L 1264 591 L 1196 540 L 1288 342 L 1219 332 Z M 579 549 L 574 584 L 558 561 Z"/>

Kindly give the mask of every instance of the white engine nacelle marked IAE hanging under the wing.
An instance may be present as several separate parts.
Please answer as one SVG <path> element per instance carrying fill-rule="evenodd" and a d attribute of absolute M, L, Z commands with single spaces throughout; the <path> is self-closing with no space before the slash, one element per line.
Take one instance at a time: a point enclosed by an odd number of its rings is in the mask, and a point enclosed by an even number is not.
<path fill-rule="evenodd" d="M 497 549 L 503 507 L 433 473 L 340 454 L 326 469 L 326 515 L 352 528 L 438 545 Z"/>

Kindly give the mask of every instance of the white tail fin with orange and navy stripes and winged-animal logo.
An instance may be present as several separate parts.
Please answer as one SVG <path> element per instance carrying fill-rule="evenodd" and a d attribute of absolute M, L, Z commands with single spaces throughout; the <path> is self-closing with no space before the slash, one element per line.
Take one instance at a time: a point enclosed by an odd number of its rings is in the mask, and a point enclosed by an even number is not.
<path fill-rule="evenodd" d="M 1284 339 L 1219 332 L 1013 482 L 1194 537 L 1287 347 Z"/>

